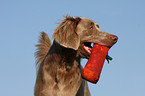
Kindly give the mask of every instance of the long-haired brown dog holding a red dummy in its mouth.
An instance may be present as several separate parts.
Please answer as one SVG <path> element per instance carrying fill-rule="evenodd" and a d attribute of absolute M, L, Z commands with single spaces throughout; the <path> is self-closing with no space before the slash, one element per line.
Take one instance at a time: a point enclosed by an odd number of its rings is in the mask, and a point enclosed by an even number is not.
<path fill-rule="evenodd" d="M 44 32 L 37 45 L 35 96 L 90 96 L 87 82 L 81 78 L 81 58 L 89 58 L 91 43 L 112 47 L 118 37 L 99 29 L 94 21 L 70 17 L 53 33 L 53 44 Z"/>

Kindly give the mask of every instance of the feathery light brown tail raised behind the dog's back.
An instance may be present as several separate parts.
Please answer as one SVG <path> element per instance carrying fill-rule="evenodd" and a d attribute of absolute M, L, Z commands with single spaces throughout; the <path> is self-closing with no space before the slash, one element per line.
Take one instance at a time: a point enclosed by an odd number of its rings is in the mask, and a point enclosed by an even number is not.
<path fill-rule="evenodd" d="M 45 32 L 41 32 L 38 42 L 39 44 L 36 45 L 37 51 L 35 52 L 36 66 L 42 63 L 51 47 L 51 41 Z"/>

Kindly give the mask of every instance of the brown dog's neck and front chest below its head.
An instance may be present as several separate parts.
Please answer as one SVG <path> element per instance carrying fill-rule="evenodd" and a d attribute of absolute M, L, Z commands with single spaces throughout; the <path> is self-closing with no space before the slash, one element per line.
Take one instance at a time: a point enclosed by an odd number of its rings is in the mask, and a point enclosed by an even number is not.
<path fill-rule="evenodd" d="M 41 88 L 45 86 L 48 90 L 57 89 L 57 94 L 63 94 L 61 96 L 64 96 L 64 93 L 60 90 L 65 92 L 71 88 L 70 94 L 75 96 L 82 84 L 80 59 L 76 55 L 77 51 L 65 48 L 54 41 L 40 66 L 42 70 L 39 70 L 37 75 L 37 82 L 40 82 L 40 86 L 43 84 Z M 46 90 L 47 92 L 49 91 Z"/>

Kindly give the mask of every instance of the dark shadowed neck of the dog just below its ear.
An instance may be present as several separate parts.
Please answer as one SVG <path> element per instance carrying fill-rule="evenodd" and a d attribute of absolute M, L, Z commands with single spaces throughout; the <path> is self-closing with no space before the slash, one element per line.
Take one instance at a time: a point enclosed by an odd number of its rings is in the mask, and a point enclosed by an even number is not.
<path fill-rule="evenodd" d="M 57 60 L 59 59 L 59 64 L 61 66 L 65 66 L 66 70 L 69 70 L 74 65 L 74 62 L 77 62 L 80 64 L 80 58 L 77 58 L 77 51 L 71 48 L 65 48 L 61 46 L 59 43 L 57 43 L 55 40 L 50 48 L 51 51 L 49 51 L 48 54 L 56 54 Z M 55 58 L 55 57 L 54 57 Z M 76 64 L 76 63 L 75 63 Z"/>

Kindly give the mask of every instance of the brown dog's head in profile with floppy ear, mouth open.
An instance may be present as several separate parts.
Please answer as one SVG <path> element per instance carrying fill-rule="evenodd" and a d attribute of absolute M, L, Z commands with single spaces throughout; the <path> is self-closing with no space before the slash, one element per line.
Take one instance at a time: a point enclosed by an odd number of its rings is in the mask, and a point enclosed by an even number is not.
<path fill-rule="evenodd" d="M 118 37 L 99 29 L 94 21 L 84 17 L 70 17 L 61 22 L 53 38 L 62 46 L 79 52 L 82 58 L 89 58 L 93 44 L 112 47 Z"/>

